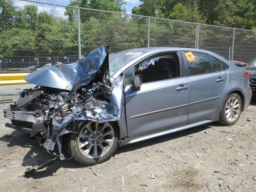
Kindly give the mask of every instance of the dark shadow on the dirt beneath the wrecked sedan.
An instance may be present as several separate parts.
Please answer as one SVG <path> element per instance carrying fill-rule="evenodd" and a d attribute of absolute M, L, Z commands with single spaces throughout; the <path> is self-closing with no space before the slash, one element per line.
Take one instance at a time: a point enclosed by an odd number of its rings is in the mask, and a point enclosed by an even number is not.
<path fill-rule="evenodd" d="M 168 134 L 165 136 L 160 136 L 157 138 L 138 142 L 136 144 L 130 144 L 130 145 L 127 145 L 124 147 L 118 147 L 116 152 L 114 153 L 114 155 L 121 154 L 124 152 L 133 151 L 133 150 L 143 148 L 146 146 L 151 146 L 154 144 L 158 144 L 160 142 L 165 142 L 168 140 L 181 138 L 183 136 L 189 136 L 196 132 L 200 132 L 207 128 L 210 128 L 210 126 L 207 126 L 207 125 L 198 126 L 198 127 L 191 128 L 188 130 L 183 130 L 183 131 Z M 212 126 L 215 126 L 215 124 Z M 39 145 L 38 142 L 30 139 L 29 136 L 27 136 L 26 134 L 19 133 L 16 130 L 14 130 L 12 132 L 12 134 L 10 134 L 10 135 L 5 135 L 5 136 L 1 137 L 0 141 L 7 142 L 8 147 L 20 146 L 20 148 L 21 148 L 20 150 L 22 150 L 22 149 L 24 151 L 28 150 L 28 152 L 26 153 L 26 155 L 24 156 L 24 158 L 22 160 L 22 166 L 36 166 L 36 165 L 40 166 L 40 165 L 46 163 L 48 160 L 56 157 L 55 155 L 49 154 L 44 147 Z M 38 178 L 44 178 L 44 177 L 48 177 L 48 176 L 54 176 L 54 174 L 60 168 L 65 168 L 66 171 L 68 171 L 67 168 L 69 169 L 69 168 L 86 168 L 86 167 L 88 167 L 88 166 L 78 164 L 74 160 L 57 160 L 56 162 L 54 162 L 54 164 L 51 164 L 50 166 L 44 168 L 43 170 L 30 173 L 30 174 L 26 175 L 25 177 L 26 178 L 32 177 L 34 179 L 38 179 Z M 25 171 L 25 168 L 24 168 L 24 171 Z"/>

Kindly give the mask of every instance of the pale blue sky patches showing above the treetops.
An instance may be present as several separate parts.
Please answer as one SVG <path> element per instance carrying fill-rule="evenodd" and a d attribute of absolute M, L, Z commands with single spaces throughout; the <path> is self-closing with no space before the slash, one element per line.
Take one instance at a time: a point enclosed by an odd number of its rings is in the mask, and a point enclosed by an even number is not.
<path fill-rule="evenodd" d="M 47 2 L 47 3 L 62 4 L 62 5 L 68 5 L 70 3 L 70 0 L 39 0 L 39 1 Z M 17 1 L 15 1 L 15 2 L 17 2 Z M 22 2 L 22 3 L 24 3 L 24 4 L 31 4 L 29 2 Z M 17 2 L 17 4 L 20 4 L 20 1 Z M 140 4 L 141 4 L 140 0 L 126 0 L 126 4 L 123 5 L 122 8 L 125 8 L 126 12 L 128 14 L 132 14 L 132 8 L 134 6 L 139 6 Z M 57 9 L 57 10 L 52 10 L 52 7 L 44 6 L 44 9 L 47 9 L 47 8 L 49 8 L 49 9 L 51 8 L 51 12 L 53 12 L 54 14 L 57 14 L 59 16 L 62 14 L 62 11 L 63 11 L 62 10 L 63 8 L 60 8 L 60 9 Z M 38 8 L 38 11 L 40 12 L 40 7 Z M 58 11 L 60 11 L 60 13 L 58 13 Z"/>

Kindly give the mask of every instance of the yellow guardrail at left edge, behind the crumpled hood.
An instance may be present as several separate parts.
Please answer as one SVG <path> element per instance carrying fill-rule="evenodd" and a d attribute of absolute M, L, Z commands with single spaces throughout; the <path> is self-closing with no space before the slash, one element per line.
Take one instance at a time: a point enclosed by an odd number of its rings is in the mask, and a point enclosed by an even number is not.
<path fill-rule="evenodd" d="M 29 73 L 4 73 L 0 74 L 0 86 L 1 85 L 19 85 L 29 84 L 24 80 L 24 77 Z"/>

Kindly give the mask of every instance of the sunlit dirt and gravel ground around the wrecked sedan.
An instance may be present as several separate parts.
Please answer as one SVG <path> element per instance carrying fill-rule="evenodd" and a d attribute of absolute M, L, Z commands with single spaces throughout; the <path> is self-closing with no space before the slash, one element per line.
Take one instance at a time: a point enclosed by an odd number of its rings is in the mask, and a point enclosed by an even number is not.
<path fill-rule="evenodd" d="M 1 87 L 0 102 L 18 98 L 15 94 L 21 88 Z M 16 93 L 8 96 L 9 90 Z M 9 104 L 0 104 L 0 113 Z M 84 167 L 73 160 L 58 160 L 27 176 L 21 176 L 27 168 L 54 156 L 36 141 L 6 128 L 9 120 L 0 114 L 0 191 L 254 192 L 255 114 L 256 100 L 234 126 L 198 126 L 119 147 L 102 164 Z"/>

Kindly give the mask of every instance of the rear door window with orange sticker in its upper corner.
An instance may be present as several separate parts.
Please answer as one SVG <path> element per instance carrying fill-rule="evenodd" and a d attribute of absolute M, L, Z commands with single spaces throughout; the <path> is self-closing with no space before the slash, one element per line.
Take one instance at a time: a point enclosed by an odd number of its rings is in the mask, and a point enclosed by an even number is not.
<path fill-rule="evenodd" d="M 188 62 L 190 75 L 199 75 L 213 72 L 212 64 L 207 54 L 186 52 L 185 57 Z"/>

